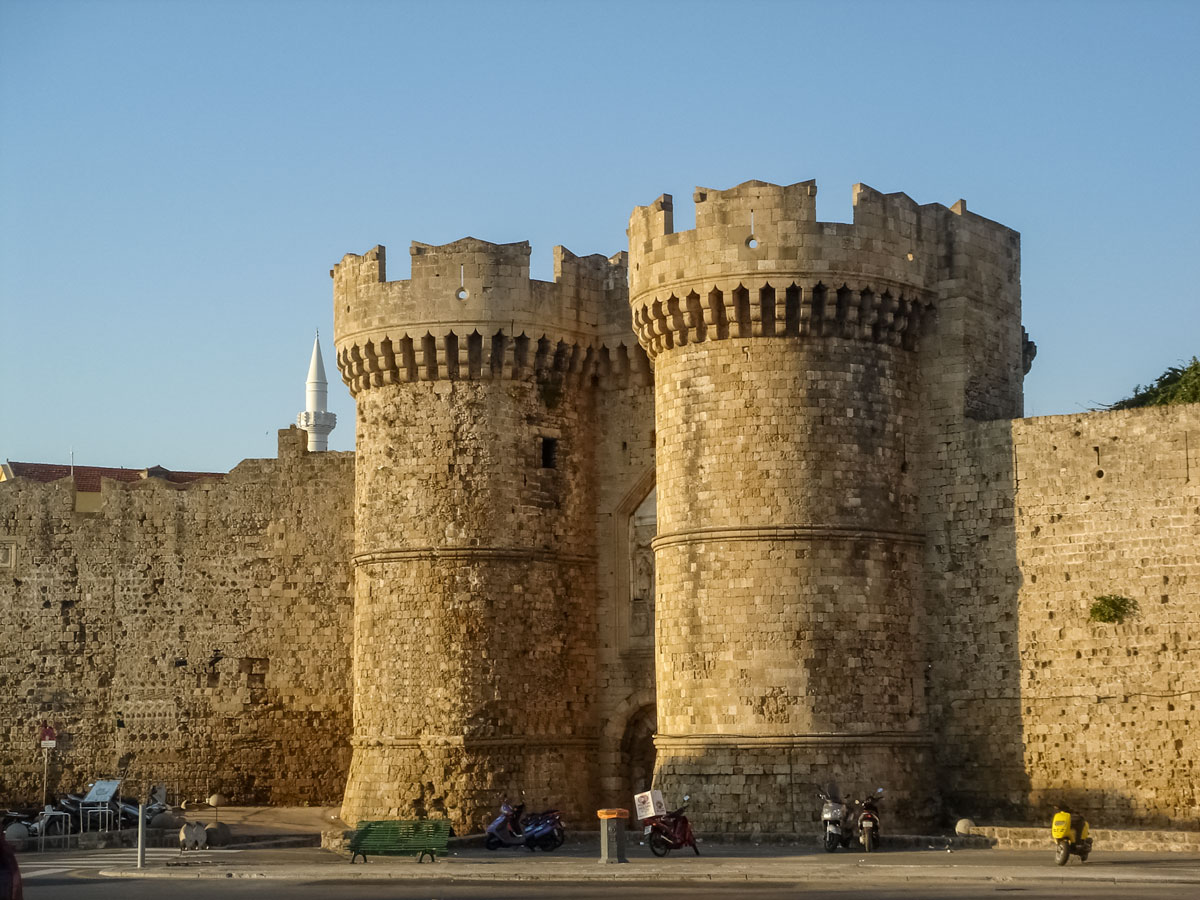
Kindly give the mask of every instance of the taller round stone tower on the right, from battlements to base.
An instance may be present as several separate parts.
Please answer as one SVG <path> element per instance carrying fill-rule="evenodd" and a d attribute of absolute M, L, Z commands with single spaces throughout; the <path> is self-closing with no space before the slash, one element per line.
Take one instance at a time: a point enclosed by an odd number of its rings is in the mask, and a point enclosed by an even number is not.
<path fill-rule="evenodd" d="M 630 221 L 656 784 L 713 830 L 806 830 L 829 779 L 884 786 L 910 820 L 934 797 L 918 348 L 956 216 L 900 197 L 859 186 L 853 224 L 821 223 L 815 184 L 749 181 L 697 190 L 695 230 L 673 233 L 670 196 Z"/>

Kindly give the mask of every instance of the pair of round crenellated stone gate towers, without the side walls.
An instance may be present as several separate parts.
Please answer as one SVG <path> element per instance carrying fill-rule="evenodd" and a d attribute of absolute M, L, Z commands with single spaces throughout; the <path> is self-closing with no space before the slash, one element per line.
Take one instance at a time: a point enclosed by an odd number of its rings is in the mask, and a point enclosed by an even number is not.
<path fill-rule="evenodd" d="M 812 182 L 700 190 L 679 234 L 665 196 L 630 220 L 628 292 L 624 254 L 558 248 L 544 283 L 527 244 L 413 244 L 404 282 L 382 247 L 337 265 L 348 821 L 480 821 L 516 786 L 595 805 L 596 407 L 644 366 L 630 310 L 654 368 L 656 784 L 724 829 L 754 809 L 796 830 L 796 791 L 839 772 L 929 803 L 924 461 L 965 416 L 1020 415 L 1019 241 L 960 206 L 854 203 L 822 223 Z"/>

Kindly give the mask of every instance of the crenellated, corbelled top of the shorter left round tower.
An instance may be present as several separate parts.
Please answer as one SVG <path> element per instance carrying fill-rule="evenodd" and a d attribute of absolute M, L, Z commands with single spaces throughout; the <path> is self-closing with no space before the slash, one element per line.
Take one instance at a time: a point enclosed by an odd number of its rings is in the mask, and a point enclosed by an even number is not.
<path fill-rule="evenodd" d="M 337 364 L 352 392 L 552 371 L 581 384 L 649 377 L 629 328 L 625 252 L 554 247 L 552 282 L 529 277 L 527 241 L 413 241 L 409 252 L 407 281 L 386 280 L 382 246 L 330 271 Z"/>

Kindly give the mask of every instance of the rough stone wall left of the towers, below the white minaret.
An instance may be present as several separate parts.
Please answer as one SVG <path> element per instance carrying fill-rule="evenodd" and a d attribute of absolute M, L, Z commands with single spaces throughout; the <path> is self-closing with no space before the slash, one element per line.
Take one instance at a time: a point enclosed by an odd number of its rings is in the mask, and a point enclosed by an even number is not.
<path fill-rule="evenodd" d="M 221 481 L 0 484 L 0 797 L 124 776 L 336 802 L 349 763 L 353 455 L 281 432 Z"/>

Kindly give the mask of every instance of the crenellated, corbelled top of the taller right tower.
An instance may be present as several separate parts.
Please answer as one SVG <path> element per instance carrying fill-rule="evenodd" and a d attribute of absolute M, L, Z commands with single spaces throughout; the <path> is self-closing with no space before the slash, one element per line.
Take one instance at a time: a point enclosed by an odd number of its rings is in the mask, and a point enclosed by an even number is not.
<path fill-rule="evenodd" d="M 1019 235 L 953 206 L 854 186 L 851 223 L 820 222 L 815 181 L 697 187 L 696 227 L 659 197 L 629 223 L 630 304 L 653 358 L 689 341 L 844 337 L 917 347 L 954 281 L 1019 284 Z M 1018 311 L 1019 314 L 1019 311 Z"/>

